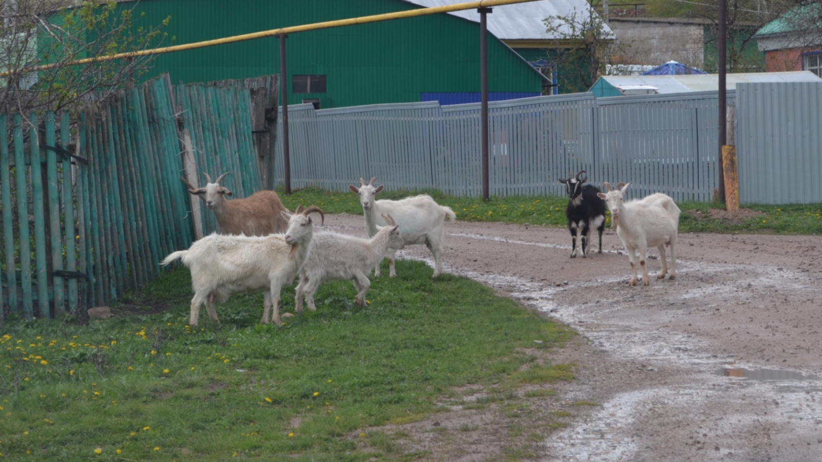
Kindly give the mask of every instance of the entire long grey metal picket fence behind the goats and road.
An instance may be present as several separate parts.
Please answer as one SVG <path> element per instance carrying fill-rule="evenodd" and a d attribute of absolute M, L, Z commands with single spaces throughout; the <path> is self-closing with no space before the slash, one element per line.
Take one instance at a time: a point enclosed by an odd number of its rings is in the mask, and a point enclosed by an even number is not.
<path fill-rule="evenodd" d="M 289 108 L 292 184 L 344 191 L 358 178 L 392 189 L 481 193 L 480 104 Z M 666 192 L 710 201 L 717 183 L 716 93 L 595 99 L 558 95 L 497 101 L 489 109 L 489 190 L 553 195 L 557 178 L 631 182 L 632 196 Z M 282 127 L 276 149 L 282 181 Z"/>

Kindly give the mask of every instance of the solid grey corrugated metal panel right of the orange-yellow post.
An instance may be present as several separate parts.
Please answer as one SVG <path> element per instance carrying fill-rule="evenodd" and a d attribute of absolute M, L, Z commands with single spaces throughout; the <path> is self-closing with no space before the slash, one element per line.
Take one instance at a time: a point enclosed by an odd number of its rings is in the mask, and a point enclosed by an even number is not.
<path fill-rule="evenodd" d="M 822 202 L 822 83 L 743 83 L 737 98 L 740 202 Z"/>

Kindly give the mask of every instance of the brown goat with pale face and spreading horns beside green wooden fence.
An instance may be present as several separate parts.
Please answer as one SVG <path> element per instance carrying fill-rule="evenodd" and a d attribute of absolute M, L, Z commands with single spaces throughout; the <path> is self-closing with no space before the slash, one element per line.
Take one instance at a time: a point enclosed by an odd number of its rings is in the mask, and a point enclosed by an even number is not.
<path fill-rule="evenodd" d="M 245 234 L 246 236 L 266 236 L 270 233 L 284 233 L 289 226 L 289 220 L 284 219 L 280 212 L 289 210 L 279 201 L 279 196 L 273 191 L 257 191 L 243 199 L 229 201 L 225 196 L 232 196 L 227 187 L 219 182 L 223 181 L 226 172 L 211 182 L 208 173 L 205 187 L 193 187 L 186 178 L 180 177 L 186 183 L 188 192 L 205 201 L 205 206 L 214 212 L 217 219 L 217 228 L 223 234 Z"/>

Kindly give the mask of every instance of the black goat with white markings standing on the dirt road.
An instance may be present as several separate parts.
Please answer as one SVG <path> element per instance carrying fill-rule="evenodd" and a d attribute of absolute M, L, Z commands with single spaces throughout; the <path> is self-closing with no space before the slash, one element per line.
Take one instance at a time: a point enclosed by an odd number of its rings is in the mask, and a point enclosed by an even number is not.
<path fill-rule="evenodd" d="M 588 181 L 588 176 L 580 178 L 580 173 L 574 175 L 569 173 L 568 178 L 559 178 L 560 182 L 566 185 L 568 192 L 568 206 L 566 207 L 566 217 L 568 218 L 568 230 L 570 231 L 571 248 L 570 257 L 576 257 L 576 240 L 580 238 L 582 256 L 585 257 L 585 248 L 590 248 L 591 229 L 596 228 L 599 233 L 599 252 L 603 252 L 603 229 L 605 229 L 605 202 L 597 194 L 598 187 L 593 184 L 584 184 Z"/>

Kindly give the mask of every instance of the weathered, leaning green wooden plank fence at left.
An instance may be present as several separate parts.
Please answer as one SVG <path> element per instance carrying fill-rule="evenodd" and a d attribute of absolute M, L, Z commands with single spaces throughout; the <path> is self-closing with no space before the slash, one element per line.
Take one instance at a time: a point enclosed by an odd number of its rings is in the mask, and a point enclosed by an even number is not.
<path fill-rule="evenodd" d="M 73 129 L 67 113 L 0 115 L 0 323 L 111 303 L 191 245 L 197 201 L 180 181 L 187 133 L 195 175 L 232 170 L 235 196 L 261 189 L 273 172 L 260 172 L 270 153 L 259 137 L 273 123 L 252 128 L 253 85 L 269 92 L 275 81 L 179 85 L 175 102 L 161 76 L 85 109 Z M 201 215 L 213 231 L 213 214 Z"/>

